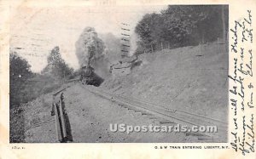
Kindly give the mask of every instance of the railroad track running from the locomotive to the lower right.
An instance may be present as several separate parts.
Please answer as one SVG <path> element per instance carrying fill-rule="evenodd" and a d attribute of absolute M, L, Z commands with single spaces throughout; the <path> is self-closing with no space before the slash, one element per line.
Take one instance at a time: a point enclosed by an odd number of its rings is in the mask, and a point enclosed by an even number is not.
<path fill-rule="evenodd" d="M 104 99 L 111 100 L 121 106 L 124 106 L 128 110 L 130 109 L 136 112 L 141 112 L 142 115 L 147 115 L 151 116 L 151 118 L 158 119 L 158 121 L 160 121 L 160 124 L 179 123 L 189 128 L 193 126 L 216 126 L 218 128 L 218 132 L 216 133 L 184 132 L 186 133 L 186 135 L 198 136 L 199 140 L 207 139 L 216 141 L 218 139 L 222 139 L 224 136 L 227 136 L 227 122 L 223 122 L 207 116 L 200 116 L 188 111 L 169 109 L 164 105 L 154 104 L 140 99 L 133 99 L 118 94 L 113 94 L 106 90 L 103 90 L 102 88 L 94 88 L 84 85 L 83 87 L 90 93 L 96 94 L 97 96 L 100 96 Z"/>

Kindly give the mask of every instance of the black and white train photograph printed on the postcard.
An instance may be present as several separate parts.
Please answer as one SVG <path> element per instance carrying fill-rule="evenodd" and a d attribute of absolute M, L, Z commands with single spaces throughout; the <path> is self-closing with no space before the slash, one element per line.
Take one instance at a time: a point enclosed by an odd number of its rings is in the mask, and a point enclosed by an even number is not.
<path fill-rule="evenodd" d="M 9 143 L 228 143 L 228 4 L 10 12 Z"/>

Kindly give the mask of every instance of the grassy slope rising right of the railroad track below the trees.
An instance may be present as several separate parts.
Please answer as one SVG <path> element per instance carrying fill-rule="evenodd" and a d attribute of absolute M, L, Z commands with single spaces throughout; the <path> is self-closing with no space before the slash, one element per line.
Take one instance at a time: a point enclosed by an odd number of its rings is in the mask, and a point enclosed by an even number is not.
<path fill-rule="evenodd" d="M 200 56 L 201 55 L 201 56 Z M 228 53 L 225 45 L 163 50 L 139 57 L 131 75 L 106 80 L 116 94 L 227 120 Z"/>

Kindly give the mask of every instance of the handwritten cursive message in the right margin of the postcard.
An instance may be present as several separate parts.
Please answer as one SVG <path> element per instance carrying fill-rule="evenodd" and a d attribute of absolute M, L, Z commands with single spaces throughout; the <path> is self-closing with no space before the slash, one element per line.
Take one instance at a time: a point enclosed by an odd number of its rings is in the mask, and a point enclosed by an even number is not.
<path fill-rule="evenodd" d="M 253 15 L 247 10 L 245 17 L 234 21 L 231 27 L 230 55 L 230 145 L 243 156 L 254 152 L 253 105 Z"/>

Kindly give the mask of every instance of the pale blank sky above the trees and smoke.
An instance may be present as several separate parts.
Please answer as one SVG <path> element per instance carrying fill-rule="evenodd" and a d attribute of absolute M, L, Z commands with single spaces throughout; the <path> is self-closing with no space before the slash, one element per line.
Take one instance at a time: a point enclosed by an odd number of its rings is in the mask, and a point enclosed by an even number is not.
<path fill-rule="evenodd" d="M 98 33 L 112 32 L 120 37 L 121 23 L 134 30 L 144 14 L 162 9 L 166 6 L 23 7 L 10 20 L 10 49 L 26 59 L 32 71 L 40 72 L 47 65 L 49 51 L 59 46 L 62 58 L 77 69 L 75 42 L 84 27 L 92 26 Z"/>

